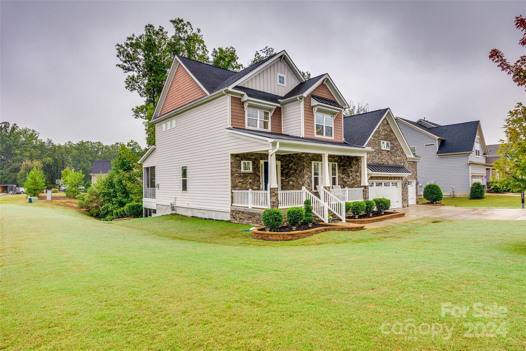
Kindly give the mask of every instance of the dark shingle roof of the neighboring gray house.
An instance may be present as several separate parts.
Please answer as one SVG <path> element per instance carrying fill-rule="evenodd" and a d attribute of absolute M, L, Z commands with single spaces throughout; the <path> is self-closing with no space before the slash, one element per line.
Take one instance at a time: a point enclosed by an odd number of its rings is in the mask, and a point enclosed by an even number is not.
<path fill-rule="evenodd" d="M 430 133 L 444 138 L 444 140 L 440 141 L 437 154 L 473 151 L 479 124 L 479 121 L 471 121 L 428 128 Z"/>

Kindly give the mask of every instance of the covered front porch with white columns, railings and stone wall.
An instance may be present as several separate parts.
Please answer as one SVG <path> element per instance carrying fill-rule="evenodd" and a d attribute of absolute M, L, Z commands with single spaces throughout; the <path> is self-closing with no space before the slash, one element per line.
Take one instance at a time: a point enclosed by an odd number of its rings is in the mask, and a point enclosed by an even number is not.
<path fill-rule="evenodd" d="M 310 152 L 309 152 L 310 151 Z M 310 199 L 313 213 L 345 222 L 345 202 L 367 198 L 365 150 L 277 142 L 270 149 L 230 155 L 231 204 L 286 209 Z"/>

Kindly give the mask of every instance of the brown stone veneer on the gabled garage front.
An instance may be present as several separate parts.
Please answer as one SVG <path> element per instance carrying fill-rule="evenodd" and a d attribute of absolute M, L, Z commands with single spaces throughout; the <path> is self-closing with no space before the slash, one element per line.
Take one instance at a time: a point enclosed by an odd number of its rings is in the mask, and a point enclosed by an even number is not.
<path fill-rule="evenodd" d="M 390 150 L 381 149 L 381 141 L 387 141 L 390 143 Z M 415 161 L 408 161 L 406 153 L 403 151 L 402 145 L 398 142 L 398 138 L 393 132 L 391 125 L 384 119 L 382 123 L 376 129 L 376 132 L 372 135 L 367 146 L 375 149 L 375 151 L 370 152 L 367 155 L 368 163 L 379 163 L 382 165 L 399 165 L 404 166 L 409 171 L 411 175 L 408 177 L 370 177 L 369 180 L 385 180 L 385 179 L 396 179 L 401 181 L 402 187 L 402 207 L 409 206 L 409 195 L 408 187 L 404 185 L 403 182 L 406 180 L 418 180 L 417 178 L 417 163 Z M 418 187 L 415 184 L 415 192 L 418 192 Z M 415 194 L 416 197 L 416 194 Z M 364 195 L 364 198 L 365 195 Z M 368 198 L 368 197 L 367 197 Z"/>

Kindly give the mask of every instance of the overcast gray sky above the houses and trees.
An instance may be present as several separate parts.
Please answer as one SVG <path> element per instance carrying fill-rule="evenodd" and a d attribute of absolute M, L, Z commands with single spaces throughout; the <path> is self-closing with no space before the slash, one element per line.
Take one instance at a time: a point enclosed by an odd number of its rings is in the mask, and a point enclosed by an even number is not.
<path fill-rule="evenodd" d="M 329 73 L 348 100 L 439 124 L 480 119 L 487 144 L 523 88 L 488 59 L 524 54 L 514 17 L 526 2 L 0 2 L 0 116 L 57 143 L 145 145 L 115 44 L 181 17 L 208 49 L 245 64 L 266 45 L 299 69 Z"/>

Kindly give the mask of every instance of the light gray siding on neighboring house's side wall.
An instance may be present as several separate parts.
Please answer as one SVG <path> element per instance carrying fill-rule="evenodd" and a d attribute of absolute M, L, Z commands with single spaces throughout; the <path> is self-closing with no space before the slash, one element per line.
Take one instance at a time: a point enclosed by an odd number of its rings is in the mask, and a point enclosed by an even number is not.
<path fill-rule="evenodd" d="M 442 189 L 444 195 L 454 190 L 456 193 L 467 193 L 470 187 L 468 155 L 437 157 L 437 139 L 423 134 L 408 125 L 397 122 L 410 147 L 416 147 L 416 154 L 422 159 L 417 162 L 418 193 L 422 194 L 428 182 L 434 182 Z M 434 144 L 424 146 L 424 144 Z M 454 189 L 453 189 L 454 187 Z"/>

